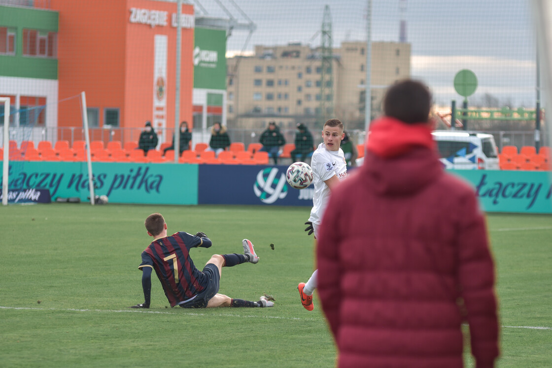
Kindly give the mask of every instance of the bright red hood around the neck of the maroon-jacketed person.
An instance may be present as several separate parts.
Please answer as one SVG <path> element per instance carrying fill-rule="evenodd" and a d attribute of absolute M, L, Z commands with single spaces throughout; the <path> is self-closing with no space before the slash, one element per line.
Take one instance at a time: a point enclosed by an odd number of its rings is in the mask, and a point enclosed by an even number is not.
<path fill-rule="evenodd" d="M 370 124 L 366 149 L 378 156 L 400 156 L 416 146 L 435 148 L 428 124 L 406 124 L 390 117 L 374 120 Z"/>

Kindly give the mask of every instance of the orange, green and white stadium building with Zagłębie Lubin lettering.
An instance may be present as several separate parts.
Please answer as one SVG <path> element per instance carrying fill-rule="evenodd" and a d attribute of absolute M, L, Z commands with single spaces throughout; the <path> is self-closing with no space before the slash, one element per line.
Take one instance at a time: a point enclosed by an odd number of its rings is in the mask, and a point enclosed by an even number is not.
<path fill-rule="evenodd" d="M 32 125 L 31 140 L 82 139 L 81 105 L 68 98 L 84 91 L 93 139 L 137 140 L 151 120 L 171 140 L 176 11 L 174 1 L 0 0 L 0 96 L 14 112 L 41 106 L 12 124 Z M 226 30 L 195 28 L 191 4 L 182 13 L 179 120 L 205 129 L 225 123 Z"/>

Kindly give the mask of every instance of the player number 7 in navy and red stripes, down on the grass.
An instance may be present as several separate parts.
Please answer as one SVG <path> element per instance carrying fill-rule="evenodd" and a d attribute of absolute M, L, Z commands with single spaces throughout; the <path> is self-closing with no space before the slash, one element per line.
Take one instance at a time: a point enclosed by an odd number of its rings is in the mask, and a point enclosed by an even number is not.
<path fill-rule="evenodd" d="M 195 235 L 185 232 L 167 235 L 167 224 L 160 213 L 146 218 L 147 234 L 155 238 L 142 252 L 142 288 L 144 303 L 130 308 L 149 308 L 151 302 L 151 272 L 157 277 L 171 307 L 215 308 L 215 307 L 273 307 L 274 303 L 262 296 L 257 302 L 232 299 L 219 294 L 222 267 L 232 267 L 245 262 L 257 263 L 250 240 L 243 239 L 245 254 L 215 254 L 205 265 L 203 271 L 194 266 L 189 251 L 192 248 L 209 248 L 213 243 L 204 233 Z"/>

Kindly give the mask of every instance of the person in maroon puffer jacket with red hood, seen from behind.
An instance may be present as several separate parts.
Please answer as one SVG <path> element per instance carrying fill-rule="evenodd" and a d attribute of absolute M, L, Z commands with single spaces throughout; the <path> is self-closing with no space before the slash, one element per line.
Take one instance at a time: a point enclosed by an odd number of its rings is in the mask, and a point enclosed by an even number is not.
<path fill-rule="evenodd" d="M 332 191 L 317 247 L 339 367 L 477 368 L 498 356 L 495 272 L 474 189 L 444 172 L 420 82 L 390 87 L 364 165 Z"/>

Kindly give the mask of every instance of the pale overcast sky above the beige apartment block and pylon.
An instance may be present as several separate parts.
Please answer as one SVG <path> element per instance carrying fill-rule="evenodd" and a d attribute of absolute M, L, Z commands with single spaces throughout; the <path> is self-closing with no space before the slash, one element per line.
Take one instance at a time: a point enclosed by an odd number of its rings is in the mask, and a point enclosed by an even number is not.
<path fill-rule="evenodd" d="M 197 0 L 209 15 L 225 11 L 213 0 Z M 253 50 L 254 45 L 282 45 L 311 41 L 320 45 L 323 10 L 330 6 L 333 45 L 343 40 L 366 40 L 366 0 L 220 0 L 233 17 L 246 23 L 236 3 L 257 26 L 246 45 L 248 32 L 235 30 L 228 50 Z M 194 3 L 194 1 L 192 1 Z M 526 0 L 373 0 L 371 39 L 398 41 L 401 17 L 407 21 L 412 45 L 412 76 L 431 86 L 436 101 L 461 101 L 454 92 L 454 75 L 461 69 L 475 72 L 479 87 L 469 99 L 490 93 L 501 102 L 534 107 L 536 51 L 533 22 Z M 199 7 L 197 7 L 199 9 Z M 198 10 L 201 13 L 201 10 Z"/>

